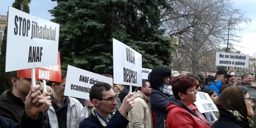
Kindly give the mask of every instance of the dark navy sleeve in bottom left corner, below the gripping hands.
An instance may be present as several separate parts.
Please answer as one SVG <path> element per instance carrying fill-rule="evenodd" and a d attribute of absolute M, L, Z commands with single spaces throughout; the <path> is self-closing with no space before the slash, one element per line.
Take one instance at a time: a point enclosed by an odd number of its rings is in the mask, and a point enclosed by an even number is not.
<path fill-rule="evenodd" d="M 0 127 L 2 128 L 44 128 L 45 116 L 40 113 L 37 120 L 32 120 L 27 117 L 26 113 L 21 117 L 20 123 L 13 123 L 12 120 L 0 116 Z"/>

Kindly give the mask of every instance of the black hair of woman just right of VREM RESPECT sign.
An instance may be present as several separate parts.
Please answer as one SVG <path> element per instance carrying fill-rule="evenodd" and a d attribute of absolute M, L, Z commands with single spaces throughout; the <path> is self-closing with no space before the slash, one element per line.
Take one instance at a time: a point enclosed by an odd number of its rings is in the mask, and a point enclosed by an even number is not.
<path fill-rule="evenodd" d="M 172 72 L 170 71 L 170 69 L 164 66 L 158 66 L 153 69 L 151 73 L 151 78 L 148 79 L 150 80 L 151 88 L 159 90 L 158 87 L 163 85 L 163 79 L 166 77 L 170 77 L 171 74 Z"/>

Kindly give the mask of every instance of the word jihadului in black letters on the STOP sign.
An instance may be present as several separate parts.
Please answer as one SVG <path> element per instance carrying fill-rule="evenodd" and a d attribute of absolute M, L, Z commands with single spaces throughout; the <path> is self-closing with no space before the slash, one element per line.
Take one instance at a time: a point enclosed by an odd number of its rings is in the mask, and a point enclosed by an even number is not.
<path fill-rule="evenodd" d="M 37 22 L 32 21 L 32 33 L 31 39 L 46 39 L 46 40 L 55 40 L 56 38 L 56 28 L 48 28 L 46 25 L 44 27 L 37 25 Z"/>

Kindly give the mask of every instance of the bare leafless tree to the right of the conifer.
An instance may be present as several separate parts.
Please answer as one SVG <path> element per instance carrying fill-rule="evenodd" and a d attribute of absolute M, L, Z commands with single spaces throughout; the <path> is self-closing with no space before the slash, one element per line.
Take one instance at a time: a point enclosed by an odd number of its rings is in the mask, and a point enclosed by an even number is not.
<path fill-rule="evenodd" d="M 234 32 L 240 30 L 241 23 L 248 23 L 240 10 L 234 9 L 228 0 L 192 0 L 170 1 L 173 10 L 164 11 L 162 28 L 168 28 L 170 36 L 179 37 L 178 53 L 175 65 L 181 65 L 177 70 L 193 72 L 208 72 L 210 67 L 203 57 L 211 57 L 211 50 L 218 50 L 221 45 L 239 41 Z M 229 32 L 229 34 L 228 34 Z M 179 56 L 178 56 L 179 55 Z M 176 67 L 175 67 L 176 68 Z"/>

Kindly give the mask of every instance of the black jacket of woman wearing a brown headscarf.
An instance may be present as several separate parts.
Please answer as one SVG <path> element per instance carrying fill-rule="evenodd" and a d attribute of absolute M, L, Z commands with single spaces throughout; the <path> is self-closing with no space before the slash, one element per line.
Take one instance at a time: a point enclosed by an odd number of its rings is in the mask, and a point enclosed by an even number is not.
<path fill-rule="evenodd" d="M 233 117 L 230 112 L 221 110 L 220 117 L 215 123 L 211 126 L 211 128 L 243 128 L 243 125 Z"/>

